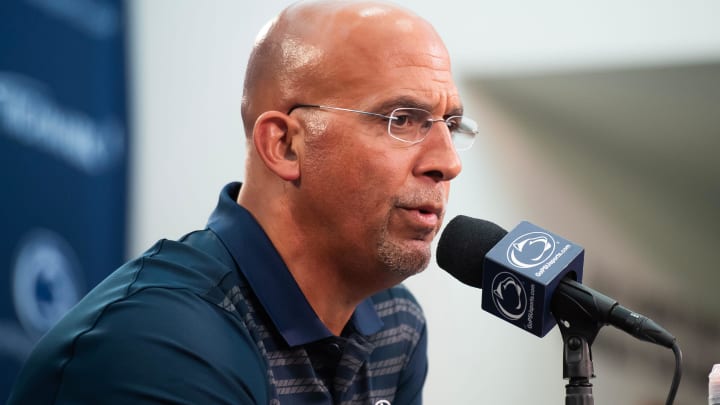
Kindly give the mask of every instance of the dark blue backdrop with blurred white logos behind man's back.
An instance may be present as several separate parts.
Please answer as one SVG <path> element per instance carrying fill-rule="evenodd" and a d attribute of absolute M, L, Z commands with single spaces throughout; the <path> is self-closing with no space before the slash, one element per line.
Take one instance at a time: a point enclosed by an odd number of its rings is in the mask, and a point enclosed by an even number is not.
<path fill-rule="evenodd" d="M 124 28 L 120 0 L 0 1 L 3 403 L 37 339 L 123 261 Z"/>

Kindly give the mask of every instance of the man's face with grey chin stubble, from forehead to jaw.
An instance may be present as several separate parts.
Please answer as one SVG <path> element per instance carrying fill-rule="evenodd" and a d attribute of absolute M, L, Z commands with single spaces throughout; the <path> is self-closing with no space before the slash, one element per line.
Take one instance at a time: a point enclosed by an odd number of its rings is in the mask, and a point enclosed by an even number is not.
<path fill-rule="evenodd" d="M 344 89 L 342 96 L 306 102 L 383 115 L 400 107 L 423 108 L 433 118 L 461 114 L 437 37 L 414 35 L 400 42 L 337 60 L 340 74 L 333 86 Z M 298 113 L 293 115 L 301 117 L 307 134 L 296 209 L 308 218 L 302 220 L 306 226 L 325 236 L 324 246 L 313 248 L 363 277 L 397 282 L 423 270 L 441 226 L 449 181 L 461 169 L 445 124 L 435 123 L 422 142 L 406 144 L 388 135 L 382 118 L 324 109 Z"/>

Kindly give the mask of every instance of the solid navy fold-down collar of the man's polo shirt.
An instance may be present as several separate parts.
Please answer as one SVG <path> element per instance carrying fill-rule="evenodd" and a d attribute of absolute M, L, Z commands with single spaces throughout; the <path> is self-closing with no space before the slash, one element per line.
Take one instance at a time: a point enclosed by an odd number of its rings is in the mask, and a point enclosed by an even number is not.
<path fill-rule="evenodd" d="M 315 314 L 305 295 L 260 224 L 239 205 L 241 183 L 225 186 L 208 228 L 223 241 L 240 272 L 290 346 L 324 339 L 333 334 Z M 370 335 L 382 328 L 370 298 L 355 308 L 350 320 L 355 329 Z"/>

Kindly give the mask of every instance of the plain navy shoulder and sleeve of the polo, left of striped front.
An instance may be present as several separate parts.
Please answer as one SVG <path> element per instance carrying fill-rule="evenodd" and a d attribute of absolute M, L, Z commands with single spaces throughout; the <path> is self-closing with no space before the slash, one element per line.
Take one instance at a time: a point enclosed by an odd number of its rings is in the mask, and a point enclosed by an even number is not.
<path fill-rule="evenodd" d="M 160 241 L 116 270 L 39 342 L 17 403 L 92 395 L 113 404 L 264 403 L 265 360 L 241 317 L 222 305 L 238 282 L 225 255 L 212 232 L 200 231 Z M 47 389 L 34 391 L 38 382 Z"/>

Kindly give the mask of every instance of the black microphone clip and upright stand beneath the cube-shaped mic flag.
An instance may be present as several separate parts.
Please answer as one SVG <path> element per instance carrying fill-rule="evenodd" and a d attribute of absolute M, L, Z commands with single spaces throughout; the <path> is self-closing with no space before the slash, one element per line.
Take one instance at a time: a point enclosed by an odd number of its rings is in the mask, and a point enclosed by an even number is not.
<path fill-rule="evenodd" d="M 563 280 L 562 283 L 565 283 L 564 288 L 583 288 L 574 281 Z M 568 380 L 565 405 L 595 404 L 590 383 L 590 379 L 595 377 L 590 346 L 604 324 L 593 315 L 599 310 L 598 303 L 582 299 L 584 296 L 565 294 L 563 289 L 558 289 L 551 303 L 563 337 L 563 379 Z"/>

